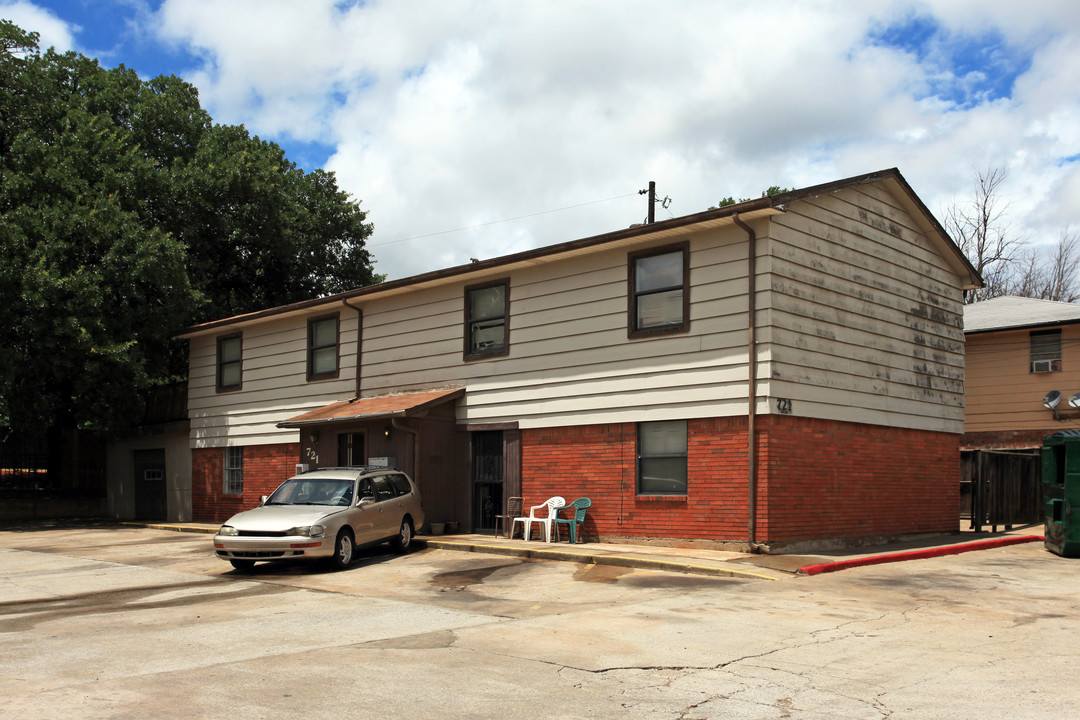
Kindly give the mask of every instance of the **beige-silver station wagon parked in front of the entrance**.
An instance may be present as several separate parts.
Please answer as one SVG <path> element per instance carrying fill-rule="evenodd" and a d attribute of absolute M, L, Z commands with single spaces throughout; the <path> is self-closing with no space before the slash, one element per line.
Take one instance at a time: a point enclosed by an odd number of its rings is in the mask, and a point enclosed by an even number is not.
<path fill-rule="evenodd" d="M 393 467 L 323 467 L 285 480 L 214 535 L 214 549 L 238 570 L 259 560 L 328 559 L 343 569 L 357 546 L 387 540 L 408 549 L 423 525 L 423 501 Z"/>

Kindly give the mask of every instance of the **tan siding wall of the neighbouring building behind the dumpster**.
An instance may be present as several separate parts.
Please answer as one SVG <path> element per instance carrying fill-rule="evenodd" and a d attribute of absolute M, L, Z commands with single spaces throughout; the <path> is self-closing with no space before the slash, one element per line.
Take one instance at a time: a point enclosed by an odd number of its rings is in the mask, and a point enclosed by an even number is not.
<path fill-rule="evenodd" d="M 1080 392 L 1080 326 L 1062 328 L 1062 369 L 1031 372 L 1028 330 L 977 332 L 968 336 L 968 406 L 964 432 L 1045 431 L 1080 429 L 1078 411 L 1067 398 Z M 1051 390 L 1062 393 L 1058 415 L 1042 406 Z"/>

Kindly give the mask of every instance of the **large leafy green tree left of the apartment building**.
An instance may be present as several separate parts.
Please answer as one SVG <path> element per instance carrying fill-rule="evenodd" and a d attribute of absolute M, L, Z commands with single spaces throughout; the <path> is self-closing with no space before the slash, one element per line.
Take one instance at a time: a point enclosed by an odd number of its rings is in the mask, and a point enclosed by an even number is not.
<path fill-rule="evenodd" d="M 0 426 L 108 432 L 194 322 L 376 282 L 333 174 L 0 21 Z"/>

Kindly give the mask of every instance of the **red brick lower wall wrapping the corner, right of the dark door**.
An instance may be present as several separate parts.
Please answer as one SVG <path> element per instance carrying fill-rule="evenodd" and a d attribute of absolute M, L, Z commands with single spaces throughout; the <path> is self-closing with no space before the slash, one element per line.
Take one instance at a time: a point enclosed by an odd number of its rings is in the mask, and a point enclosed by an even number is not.
<path fill-rule="evenodd" d="M 591 536 L 747 539 L 746 418 L 691 420 L 686 497 L 636 493 L 635 425 L 522 431 L 526 506 L 588 497 Z M 758 418 L 757 540 L 956 530 L 959 437 Z"/>

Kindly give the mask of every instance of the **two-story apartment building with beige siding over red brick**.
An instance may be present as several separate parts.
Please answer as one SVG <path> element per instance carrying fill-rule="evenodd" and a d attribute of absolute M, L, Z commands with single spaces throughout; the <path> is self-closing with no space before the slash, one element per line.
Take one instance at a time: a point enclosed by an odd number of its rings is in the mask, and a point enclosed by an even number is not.
<path fill-rule="evenodd" d="M 377 459 L 467 529 L 561 494 L 608 539 L 954 531 L 978 283 L 889 169 L 205 323 L 193 517 Z"/>

